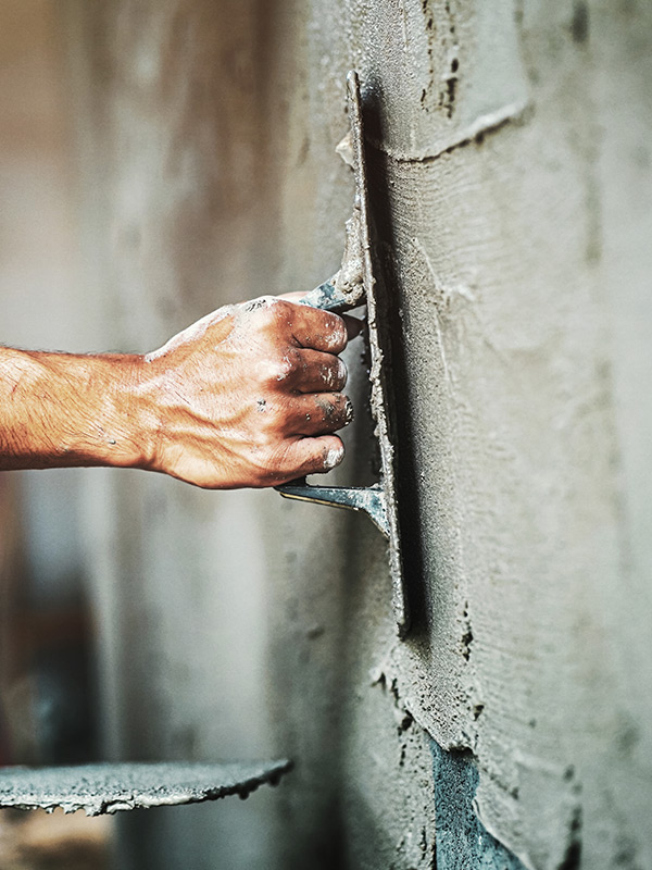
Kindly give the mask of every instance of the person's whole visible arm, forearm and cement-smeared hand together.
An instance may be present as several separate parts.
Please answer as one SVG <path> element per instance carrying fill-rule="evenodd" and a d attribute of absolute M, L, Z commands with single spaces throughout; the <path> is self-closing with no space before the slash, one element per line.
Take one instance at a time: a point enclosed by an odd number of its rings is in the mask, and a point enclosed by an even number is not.
<path fill-rule="evenodd" d="M 274 297 L 218 309 L 145 357 L 0 347 L 0 471 L 113 465 L 213 489 L 329 471 L 347 324 Z"/>

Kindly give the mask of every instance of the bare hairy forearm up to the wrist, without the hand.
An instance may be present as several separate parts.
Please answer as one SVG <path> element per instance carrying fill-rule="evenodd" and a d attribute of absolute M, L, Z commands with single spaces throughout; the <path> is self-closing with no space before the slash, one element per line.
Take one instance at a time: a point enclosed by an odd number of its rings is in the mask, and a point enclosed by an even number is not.
<path fill-rule="evenodd" d="M 141 358 L 0 347 L 0 470 L 147 467 Z"/>

